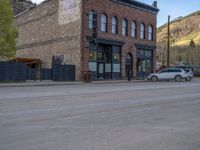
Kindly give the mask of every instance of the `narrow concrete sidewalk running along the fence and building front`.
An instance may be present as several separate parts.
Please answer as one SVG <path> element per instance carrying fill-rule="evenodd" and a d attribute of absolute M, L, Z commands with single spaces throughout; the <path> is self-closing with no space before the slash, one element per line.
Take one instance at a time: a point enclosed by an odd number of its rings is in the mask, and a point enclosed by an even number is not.
<path fill-rule="evenodd" d="M 11 82 L 11 83 L 0 83 L 1 87 L 26 87 L 26 86 L 57 86 L 57 85 L 78 85 L 78 84 L 110 84 L 110 83 L 128 83 L 128 82 L 144 82 L 146 80 L 100 80 L 92 82 L 83 81 L 26 81 L 26 82 Z"/>

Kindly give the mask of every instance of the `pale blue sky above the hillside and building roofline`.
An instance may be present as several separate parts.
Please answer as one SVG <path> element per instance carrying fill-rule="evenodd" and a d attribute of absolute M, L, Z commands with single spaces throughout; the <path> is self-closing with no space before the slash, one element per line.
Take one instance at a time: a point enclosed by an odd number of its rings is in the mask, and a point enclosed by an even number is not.
<path fill-rule="evenodd" d="M 43 0 L 32 0 L 35 3 L 40 3 Z M 137 0 L 151 5 L 154 0 Z M 157 26 L 167 23 L 168 15 L 171 20 L 180 16 L 186 16 L 192 12 L 200 10 L 200 0 L 157 0 L 158 8 L 160 9 L 157 17 Z"/>

